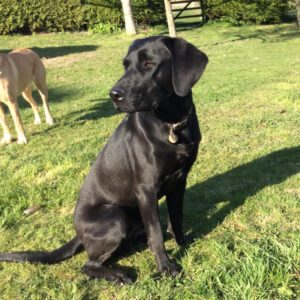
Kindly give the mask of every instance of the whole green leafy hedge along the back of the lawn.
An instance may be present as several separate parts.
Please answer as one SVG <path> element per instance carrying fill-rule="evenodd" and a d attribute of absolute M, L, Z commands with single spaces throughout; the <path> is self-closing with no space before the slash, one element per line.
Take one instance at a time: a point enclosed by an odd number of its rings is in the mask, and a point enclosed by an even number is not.
<path fill-rule="evenodd" d="M 284 20 L 291 0 L 203 0 L 210 20 L 269 24 Z M 138 25 L 165 22 L 163 0 L 132 0 Z M 120 0 L 0 0 L 0 34 L 123 26 Z M 106 29 L 107 29 L 106 28 Z M 97 31 L 97 30 L 95 30 Z"/>

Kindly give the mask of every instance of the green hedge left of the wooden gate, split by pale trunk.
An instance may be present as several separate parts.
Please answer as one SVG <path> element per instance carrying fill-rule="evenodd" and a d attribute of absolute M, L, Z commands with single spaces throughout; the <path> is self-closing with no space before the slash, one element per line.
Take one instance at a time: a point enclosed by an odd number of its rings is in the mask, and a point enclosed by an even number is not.
<path fill-rule="evenodd" d="M 163 1 L 133 0 L 132 8 L 138 24 L 164 20 Z M 121 27 L 123 22 L 120 0 L 0 0 L 0 34 L 105 31 L 110 25 Z M 106 29 L 103 24 L 108 24 Z"/>

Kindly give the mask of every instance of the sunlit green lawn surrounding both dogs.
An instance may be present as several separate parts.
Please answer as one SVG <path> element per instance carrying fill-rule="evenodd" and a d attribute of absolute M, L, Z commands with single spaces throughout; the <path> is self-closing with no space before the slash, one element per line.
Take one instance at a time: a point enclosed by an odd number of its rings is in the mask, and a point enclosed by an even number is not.
<path fill-rule="evenodd" d="M 85 253 L 53 266 L 2 263 L 1 299 L 300 298 L 300 32 L 213 24 L 179 35 L 210 59 L 194 88 L 203 141 L 185 196 L 184 228 L 195 241 L 185 248 L 166 241 L 182 274 L 158 280 L 142 244 L 118 261 L 136 277 L 123 287 L 81 274 Z M 124 117 L 107 95 L 132 39 L 0 37 L 1 52 L 31 47 L 49 58 L 56 121 L 32 125 L 20 100 L 29 143 L 0 149 L 0 251 L 50 250 L 74 236 L 80 186 Z M 31 204 L 42 209 L 25 217 Z M 161 208 L 164 216 L 163 200 Z"/>

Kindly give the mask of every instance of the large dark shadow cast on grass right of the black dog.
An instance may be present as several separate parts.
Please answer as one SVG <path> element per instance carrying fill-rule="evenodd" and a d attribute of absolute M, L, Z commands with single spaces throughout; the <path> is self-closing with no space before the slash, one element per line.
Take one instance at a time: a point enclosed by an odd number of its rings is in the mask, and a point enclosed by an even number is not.
<path fill-rule="evenodd" d="M 210 233 L 247 198 L 299 172 L 300 146 L 272 152 L 190 187 L 185 196 L 185 215 L 188 219 L 195 218 L 188 228 L 190 238 Z M 230 201 L 226 203 L 225 199 Z M 216 210 L 221 202 L 226 204 Z"/>

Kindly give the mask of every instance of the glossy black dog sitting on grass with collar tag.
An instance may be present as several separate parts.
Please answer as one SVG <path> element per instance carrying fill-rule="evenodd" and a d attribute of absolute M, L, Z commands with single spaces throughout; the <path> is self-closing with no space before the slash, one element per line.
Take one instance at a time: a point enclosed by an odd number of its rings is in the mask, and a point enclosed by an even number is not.
<path fill-rule="evenodd" d="M 115 107 L 128 114 L 81 188 L 76 237 L 49 253 L 2 253 L 0 261 L 51 264 L 85 249 L 89 261 L 84 273 L 128 283 L 123 272 L 103 263 L 122 241 L 132 241 L 145 228 L 158 271 L 176 275 L 164 248 L 158 199 L 166 196 L 169 230 L 181 245 L 186 178 L 201 138 L 191 88 L 207 62 L 203 52 L 183 39 L 136 40 L 124 59 L 125 74 L 110 92 Z"/>

